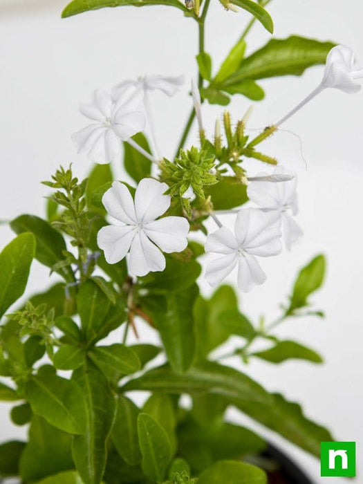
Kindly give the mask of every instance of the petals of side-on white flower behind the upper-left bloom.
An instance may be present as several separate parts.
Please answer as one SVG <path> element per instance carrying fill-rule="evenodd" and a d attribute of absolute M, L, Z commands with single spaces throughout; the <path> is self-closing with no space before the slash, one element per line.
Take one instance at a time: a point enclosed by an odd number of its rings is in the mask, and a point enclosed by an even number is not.
<path fill-rule="evenodd" d="M 118 99 L 120 92 L 125 88 L 133 88 L 135 91 L 144 94 L 146 91 L 162 91 L 168 96 L 173 96 L 184 83 L 184 76 L 178 75 L 176 77 L 166 77 L 164 75 L 145 75 L 138 77 L 138 79 L 129 79 L 117 84 L 113 90 L 112 95 L 114 99 Z"/>

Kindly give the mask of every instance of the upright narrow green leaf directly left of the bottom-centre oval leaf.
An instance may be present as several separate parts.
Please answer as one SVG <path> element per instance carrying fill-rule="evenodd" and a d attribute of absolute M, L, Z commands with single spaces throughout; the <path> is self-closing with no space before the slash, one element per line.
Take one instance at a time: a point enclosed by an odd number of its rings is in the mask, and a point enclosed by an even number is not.
<path fill-rule="evenodd" d="M 118 409 L 111 438 L 120 456 L 129 464 L 141 462 L 138 443 L 138 415 L 140 410 L 129 398 L 118 395 Z"/>

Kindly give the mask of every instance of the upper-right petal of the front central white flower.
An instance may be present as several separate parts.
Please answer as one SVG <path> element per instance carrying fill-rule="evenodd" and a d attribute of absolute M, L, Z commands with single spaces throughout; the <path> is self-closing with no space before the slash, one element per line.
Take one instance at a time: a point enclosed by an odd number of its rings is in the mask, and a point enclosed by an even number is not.
<path fill-rule="evenodd" d="M 170 206 L 170 196 L 163 195 L 169 187 L 153 178 L 142 178 L 135 194 L 138 221 L 147 223 L 165 214 Z"/>

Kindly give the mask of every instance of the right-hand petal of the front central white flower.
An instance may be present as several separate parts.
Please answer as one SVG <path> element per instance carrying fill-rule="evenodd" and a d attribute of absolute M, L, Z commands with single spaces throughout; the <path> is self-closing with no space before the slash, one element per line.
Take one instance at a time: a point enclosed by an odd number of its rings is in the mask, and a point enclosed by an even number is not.
<path fill-rule="evenodd" d="M 188 245 L 189 223 L 184 217 L 168 216 L 144 225 L 145 234 L 163 252 L 181 252 Z"/>

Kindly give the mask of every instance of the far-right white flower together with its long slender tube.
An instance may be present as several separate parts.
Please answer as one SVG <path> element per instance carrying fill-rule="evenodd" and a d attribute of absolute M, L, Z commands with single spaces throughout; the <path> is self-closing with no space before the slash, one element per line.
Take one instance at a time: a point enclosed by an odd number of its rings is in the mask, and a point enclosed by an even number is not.
<path fill-rule="evenodd" d="M 331 49 L 326 57 L 325 71 L 322 82 L 317 86 L 304 100 L 292 109 L 286 116 L 279 120 L 275 127 L 281 126 L 283 122 L 291 118 L 297 113 L 305 104 L 312 100 L 319 93 L 326 88 L 335 88 L 344 93 L 357 93 L 361 89 L 361 85 L 357 80 L 363 78 L 363 69 L 355 69 L 354 67 L 354 53 L 346 46 L 335 46 Z"/>

